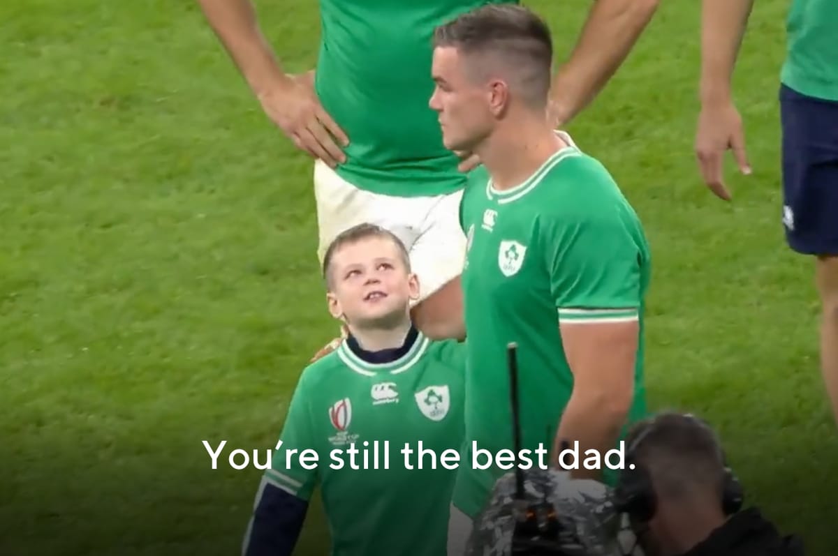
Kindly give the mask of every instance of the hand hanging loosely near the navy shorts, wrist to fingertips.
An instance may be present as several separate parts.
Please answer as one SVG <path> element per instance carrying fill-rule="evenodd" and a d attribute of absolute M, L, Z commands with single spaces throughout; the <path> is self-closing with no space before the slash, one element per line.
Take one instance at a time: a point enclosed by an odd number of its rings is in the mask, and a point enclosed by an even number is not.
<path fill-rule="evenodd" d="M 696 157 L 701 177 L 717 197 L 731 200 L 722 178 L 722 157 L 731 149 L 746 176 L 751 173 L 745 150 L 742 117 L 731 100 L 708 101 L 701 106 L 696 131 Z"/>

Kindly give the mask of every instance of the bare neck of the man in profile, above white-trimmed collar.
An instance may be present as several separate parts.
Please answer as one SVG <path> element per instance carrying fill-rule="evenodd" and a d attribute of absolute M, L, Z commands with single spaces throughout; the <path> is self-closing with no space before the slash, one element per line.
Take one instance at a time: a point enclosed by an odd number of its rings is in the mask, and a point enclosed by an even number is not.
<path fill-rule="evenodd" d="M 494 188 L 500 191 L 524 183 L 550 157 L 567 147 L 546 118 L 530 113 L 510 115 L 504 124 L 477 149 Z"/>

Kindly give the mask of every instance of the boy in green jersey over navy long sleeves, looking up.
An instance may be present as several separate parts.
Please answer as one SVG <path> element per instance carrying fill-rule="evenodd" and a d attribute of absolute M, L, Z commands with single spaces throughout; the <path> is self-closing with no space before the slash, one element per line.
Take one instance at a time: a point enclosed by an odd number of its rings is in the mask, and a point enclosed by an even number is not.
<path fill-rule="evenodd" d="M 290 555 L 319 484 L 334 556 L 439 556 L 463 439 L 463 345 L 412 327 L 419 283 L 391 232 L 344 231 L 323 265 L 329 311 L 350 334 L 299 379 L 243 553 Z"/>

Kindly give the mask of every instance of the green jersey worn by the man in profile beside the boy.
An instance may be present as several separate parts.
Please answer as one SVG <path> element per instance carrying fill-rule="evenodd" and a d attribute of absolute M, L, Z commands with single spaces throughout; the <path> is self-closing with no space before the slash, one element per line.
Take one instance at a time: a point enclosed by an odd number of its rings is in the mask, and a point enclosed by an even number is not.
<path fill-rule="evenodd" d="M 608 171 L 577 147 L 556 152 L 503 192 L 484 167 L 473 180 L 460 208 L 468 237 L 462 460 L 469 465 L 460 467 L 453 498 L 472 516 L 505 472 L 473 470 L 472 443 L 493 453 L 514 447 L 508 343 L 518 344 L 522 446 L 551 451 L 573 384 L 559 323 L 639 319 L 642 331 L 650 277 L 649 245 L 634 209 Z M 631 421 L 646 412 L 643 355 L 641 332 Z"/>

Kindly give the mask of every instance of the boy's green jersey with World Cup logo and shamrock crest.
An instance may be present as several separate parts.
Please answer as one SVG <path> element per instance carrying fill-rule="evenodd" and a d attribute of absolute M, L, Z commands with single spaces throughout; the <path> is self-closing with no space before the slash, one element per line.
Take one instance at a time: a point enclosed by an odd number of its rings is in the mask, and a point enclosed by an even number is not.
<path fill-rule="evenodd" d="M 445 450 L 458 453 L 464 369 L 463 344 L 432 342 L 420 332 L 392 363 L 366 363 L 343 342 L 303 371 L 282 445 L 264 479 L 307 501 L 319 486 L 332 556 L 445 553 L 456 468 L 447 470 L 437 461 L 434 470 L 432 458 L 425 456 L 419 469 L 416 450 L 421 441 L 437 456 Z M 353 444 L 360 450 L 355 464 L 367 469 L 351 468 L 347 450 Z M 405 444 L 414 450 L 413 469 L 404 463 Z M 300 463 L 298 456 L 307 449 L 318 454 L 314 469 Z M 289 461 L 290 450 L 298 451 Z M 339 461 L 341 469 L 331 468 Z"/>

